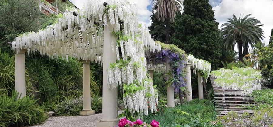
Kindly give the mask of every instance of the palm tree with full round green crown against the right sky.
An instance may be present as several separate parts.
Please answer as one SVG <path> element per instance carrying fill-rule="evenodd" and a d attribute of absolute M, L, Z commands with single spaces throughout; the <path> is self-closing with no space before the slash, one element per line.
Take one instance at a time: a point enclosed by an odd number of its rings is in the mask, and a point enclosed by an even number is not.
<path fill-rule="evenodd" d="M 261 21 L 249 17 L 250 15 L 237 18 L 233 14 L 233 18 L 227 19 L 227 23 L 221 26 L 221 36 L 224 40 L 223 48 L 234 50 L 234 46 L 237 44 L 240 61 L 243 61 L 243 56 L 248 54 L 249 46 L 255 48 L 254 44 L 260 42 L 260 39 L 264 37 L 260 28 L 263 26 L 260 24 Z"/>

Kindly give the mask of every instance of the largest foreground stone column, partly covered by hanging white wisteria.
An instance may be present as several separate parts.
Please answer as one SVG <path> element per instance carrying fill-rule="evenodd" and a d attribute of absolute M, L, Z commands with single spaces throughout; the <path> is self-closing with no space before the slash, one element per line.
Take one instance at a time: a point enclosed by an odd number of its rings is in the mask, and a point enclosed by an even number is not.
<path fill-rule="evenodd" d="M 116 47 L 116 37 L 112 34 L 113 26 L 108 20 L 107 28 L 104 27 L 103 42 L 103 104 L 102 119 L 96 123 L 97 127 L 114 127 L 118 124 L 117 118 L 117 88 L 109 89 L 107 83 L 107 70 L 110 63 L 116 62 L 116 51 L 111 48 L 111 42 L 114 41 Z"/>

